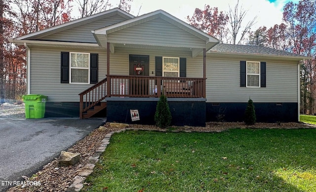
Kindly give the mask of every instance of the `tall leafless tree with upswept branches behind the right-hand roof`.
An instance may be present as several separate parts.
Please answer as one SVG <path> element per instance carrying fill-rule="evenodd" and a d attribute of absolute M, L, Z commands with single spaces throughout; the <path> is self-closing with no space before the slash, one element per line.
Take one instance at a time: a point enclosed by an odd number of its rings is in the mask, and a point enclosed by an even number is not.
<path fill-rule="evenodd" d="M 228 14 L 228 22 L 231 25 L 231 29 L 229 32 L 232 34 L 233 37 L 233 44 L 237 43 L 237 35 L 240 33 L 240 39 L 237 44 L 240 44 L 243 40 L 246 32 L 256 23 L 257 16 L 255 16 L 251 21 L 248 21 L 245 27 L 242 27 L 243 20 L 247 15 L 247 11 L 242 9 L 242 6 L 239 8 L 239 0 L 237 0 L 237 4 L 235 5 L 234 9 L 229 6 L 229 13 Z M 240 31 L 242 30 L 242 31 Z"/>

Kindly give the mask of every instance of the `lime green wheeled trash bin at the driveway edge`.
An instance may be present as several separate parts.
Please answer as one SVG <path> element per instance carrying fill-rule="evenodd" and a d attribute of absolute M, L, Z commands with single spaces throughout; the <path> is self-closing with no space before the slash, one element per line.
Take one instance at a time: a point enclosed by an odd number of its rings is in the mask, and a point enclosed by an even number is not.
<path fill-rule="evenodd" d="M 44 118 L 47 96 L 25 95 L 23 96 L 23 101 L 25 103 L 25 118 L 26 119 Z"/>

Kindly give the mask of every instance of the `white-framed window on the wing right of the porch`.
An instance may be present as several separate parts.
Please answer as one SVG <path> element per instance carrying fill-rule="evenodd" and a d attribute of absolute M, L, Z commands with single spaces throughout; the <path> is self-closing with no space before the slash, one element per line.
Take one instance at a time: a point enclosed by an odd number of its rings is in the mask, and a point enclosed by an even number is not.
<path fill-rule="evenodd" d="M 260 62 L 246 62 L 247 87 L 260 87 Z"/>

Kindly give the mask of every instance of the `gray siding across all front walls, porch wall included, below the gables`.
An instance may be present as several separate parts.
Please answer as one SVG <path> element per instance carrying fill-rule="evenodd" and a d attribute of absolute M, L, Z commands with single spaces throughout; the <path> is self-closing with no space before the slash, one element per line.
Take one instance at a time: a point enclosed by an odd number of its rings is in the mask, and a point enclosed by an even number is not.
<path fill-rule="evenodd" d="M 31 47 L 31 93 L 48 96 L 49 102 L 79 102 L 78 94 L 92 85 L 60 83 L 60 52 L 99 54 L 99 81 L 106 77 L 106 50 Z M 110 74 L 129 75 L 129 55 L 149 55 L 150 76 L 155 76 L 155 57 L 187 58 L 187 77 L 203 77 L 203 60 L 199 55 L 176 50 L 116 48 L 110 55 Z M 242 59 L 246 61 L 247 59 Z M 249 59 L 248 61 L 255 61 Z M 266 88 L 239 87 L 240 59 L 206 58 L 207 102 L 297 102 L 298 71 L 296 62 L 266 62 Z M 125 85 L 127 87 L 128 85 Z"/>

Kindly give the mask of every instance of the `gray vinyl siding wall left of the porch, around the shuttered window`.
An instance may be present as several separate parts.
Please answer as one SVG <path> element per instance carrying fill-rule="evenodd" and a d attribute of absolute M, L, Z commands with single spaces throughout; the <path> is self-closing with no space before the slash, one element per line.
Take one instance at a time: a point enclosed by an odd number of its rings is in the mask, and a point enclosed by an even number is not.
<path fill-rule="evenodd" d="M 90 84 L 60 83 L 60 53 L 85 52 L 99 54 L 99 81 L 106 76 L 106 51 L 31 47 L 31 93 L 48 96 L 48 102 L 79 102 L 79 93 Z"/>

